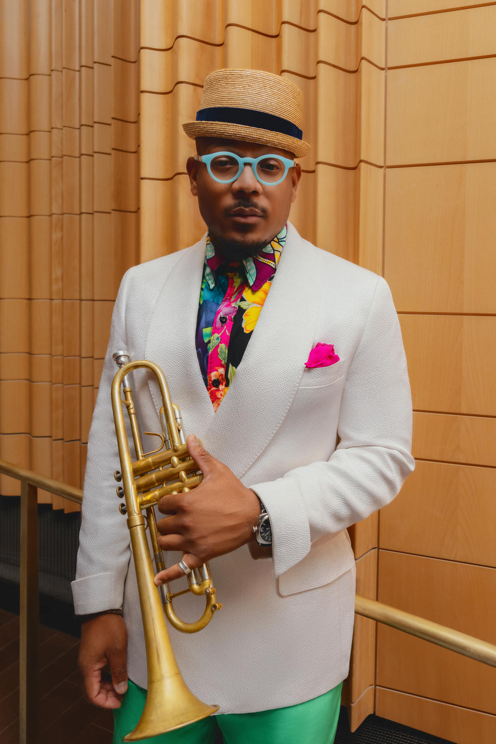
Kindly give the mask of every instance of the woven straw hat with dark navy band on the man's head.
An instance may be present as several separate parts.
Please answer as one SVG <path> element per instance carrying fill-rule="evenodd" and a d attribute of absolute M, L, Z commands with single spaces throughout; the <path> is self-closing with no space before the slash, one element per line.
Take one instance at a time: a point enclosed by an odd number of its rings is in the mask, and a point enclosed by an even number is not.
<path fill-rule="evenodd" d="M 196 121 L 188 137 L 222 137 L 278 147 L 302 158 L 303 94 L 285 77 L 263 70 L 216 70 L 205 78 Z"/>

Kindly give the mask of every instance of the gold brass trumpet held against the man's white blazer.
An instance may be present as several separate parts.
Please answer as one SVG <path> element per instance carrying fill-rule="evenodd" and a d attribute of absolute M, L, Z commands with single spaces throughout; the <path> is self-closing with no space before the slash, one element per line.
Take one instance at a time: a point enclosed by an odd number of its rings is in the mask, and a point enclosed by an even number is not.
<path fill-rule="evenodd" d="M 164 612 L 175 628 L 181 632 L 194 633 L 204 628 L 212 618 L 213 612 L 222 605 L 216 602 L 216 591 L 206 563 L 188 574 L 188 589 L 173 593 L 167 584 L 160 589 L 155 586 L 153 581 L 155 573 L 163 570 L 165 564 L 158 545 L 153 507 L 162 496 L 184 493 L 198 486 L 202 482 L 202 475 L 197 472 L 197 466 L 187 451 L 181 413 L 170 399 L 167 380 L 158 365 L 147 361 L 129 362 L 126 351 L 117 351 L 113 359 L 119 367 L 112 382 L 112 409 L 120 458 L 120 471 L 115 472 L 115 479 L 122 481 L 122 486 L 117 487 L 117 495 L 125 498 L 125 505 L 120 504 L 119 510 L 120 513 L 127 515 L 138 580 L 148 667 L 148 691 L 144 711 L 135 730 L 124 737 L 124 741 L 137 741 L 199 721 L 219 709 L 218 705 L 206 705 L 197 699 L 182 679 L 170 644 Z M 161 439 L 161 445 L 152 452 L 144 452 L 132 397 L 131 373 L 137 368 L 152 371 L 161 391 L 163 405 L 160 417 L 163 433 L 144 432 Z M 121 398 L 121 387 L 124 400 Z M 135 461 L 129 452 L 123 406 L 129 414 Z M 146 517 L 142 514 L 143 511 L 146 512 Z M 146 527 L 149 528 L 156 571 L 146 541 Z M 173 610 L 173 598 L 187 591 L 204 595 L 206 599 L 202 618 L 195 623 L 185 623 Z"/>

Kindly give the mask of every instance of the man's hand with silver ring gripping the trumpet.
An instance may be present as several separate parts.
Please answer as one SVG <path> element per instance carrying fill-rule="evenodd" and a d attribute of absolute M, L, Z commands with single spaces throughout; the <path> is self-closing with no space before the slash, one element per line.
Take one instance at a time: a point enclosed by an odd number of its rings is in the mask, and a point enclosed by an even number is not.
<path fill-rule="evenodd" d="M 158 521 L 158 543 L 164 551 L 183 551 L 189 568 L 231 553 L 254 539 L 260 516 L 257 494 L 243 486 L 227 465 L 216 460 L 194 434 L 188 452 L 203 474 L 202 483 L 187 493 L 164 496 L 158 510 L 168 516 Z M 178 563 L 155 577 L 157 585 L 184 576 Z"/>

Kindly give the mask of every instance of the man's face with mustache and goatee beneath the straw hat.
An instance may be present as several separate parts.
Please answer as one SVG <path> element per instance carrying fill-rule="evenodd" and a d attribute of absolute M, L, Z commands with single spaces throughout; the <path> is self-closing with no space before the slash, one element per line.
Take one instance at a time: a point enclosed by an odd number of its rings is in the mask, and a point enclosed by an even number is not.
<path fill-rule="evenodd" d="M 226 151 L 242 158 L 269 154 L 294 158 L 276 147 L 220 138 L 197 138 L 196 149 L 200 155 Z M 282 230 L 296 199 L 301 168 L 300 164 L 290 168 L 275 186 L 257 181 L 249 164 L 232 183 L 214 181 L 205 164 L 194 158 L 188 158 L 187 173 L 213 245 L 226 257 L 239 260 L 256 254 Z"/>

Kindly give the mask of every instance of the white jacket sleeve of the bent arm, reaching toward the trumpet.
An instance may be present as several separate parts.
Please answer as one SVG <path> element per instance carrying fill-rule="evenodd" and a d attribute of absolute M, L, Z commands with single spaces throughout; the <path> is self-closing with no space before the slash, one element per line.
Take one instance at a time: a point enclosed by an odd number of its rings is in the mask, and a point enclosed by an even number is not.
<path fill-rule="evenodd" d="M 335 535 L 391 501 L 413 470 L 412 407 L 399 321 L 379 278 L 344 385 L 340 442 L 329 461 L 290 470 L 251 488 L 271 519 L 277 576 Z"/>

